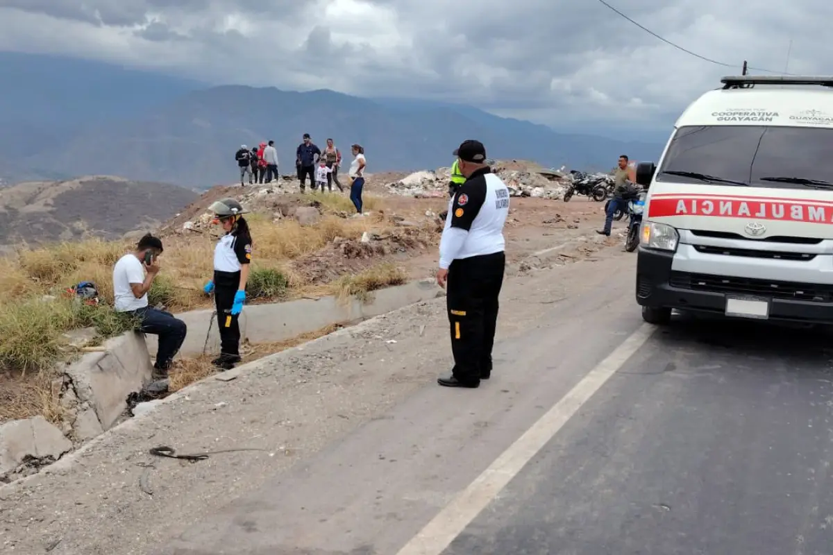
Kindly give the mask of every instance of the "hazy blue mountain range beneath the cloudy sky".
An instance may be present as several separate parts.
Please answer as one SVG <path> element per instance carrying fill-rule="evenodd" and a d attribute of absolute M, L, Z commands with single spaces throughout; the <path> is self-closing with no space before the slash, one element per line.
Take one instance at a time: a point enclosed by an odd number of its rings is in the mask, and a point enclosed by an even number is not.
<path fill-rule="evenodd" d="M 282 173 L 294 172 L 303 133 L 342 155 L 360 143 L 369 171 L 451 164 L 464 139 L 492 158 L 607 169 L 621 154 L 656 160 L 656 141 L 559 132 L 438 102 L 212 86 L 102 62 L 0 52 L 0 181 L 124 176 L 206 189 L 237 179 L 234 151 L 276 142 Z"/>

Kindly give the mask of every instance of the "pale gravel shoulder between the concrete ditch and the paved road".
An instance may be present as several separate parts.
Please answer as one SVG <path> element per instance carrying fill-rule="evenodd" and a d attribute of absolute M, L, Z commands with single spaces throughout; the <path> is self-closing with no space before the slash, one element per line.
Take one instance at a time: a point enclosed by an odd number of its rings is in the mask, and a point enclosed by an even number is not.
<path fill-rule="evenodd" d="M 517 215 L 530 225 L 508 230 L 513 263 L 502 295 L 502 336 L 525 333 L 552 303 L 591 290 L 618 271 L 621 263 L 611 263 L 623 256 L 618 241 L 582 238 L 599 224 L 597 206 L 525 210 L 521 203 Z M 546 223 L 559 217 L 564 221 Z M 561 267 L 531 270 L 551 266 Z M 237 375 L 231 381 L 183 390 L 46 472 L 0 488 L 3 553 L 151 553 L 431 382 L 449 365 L 445 318 L 442 299 L 412 305 L 222 376 Z M 159 445 L 182 453 L 254 450 L 187 463 L 149 456 Z"/>

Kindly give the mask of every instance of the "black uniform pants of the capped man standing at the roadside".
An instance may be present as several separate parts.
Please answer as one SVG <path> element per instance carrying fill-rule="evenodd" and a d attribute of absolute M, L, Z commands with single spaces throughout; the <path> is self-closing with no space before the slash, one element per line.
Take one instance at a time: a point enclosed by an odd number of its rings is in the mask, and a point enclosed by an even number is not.
<path fill-rule="evenodd" d="M 472 256 L 451 262 L 446 285 L 446 306 L 451 324 L 451 370 L 461 382 L 479 382 L 491 372 L 495 344 L 498 297 L 503 285 L 506 255 Z"/>

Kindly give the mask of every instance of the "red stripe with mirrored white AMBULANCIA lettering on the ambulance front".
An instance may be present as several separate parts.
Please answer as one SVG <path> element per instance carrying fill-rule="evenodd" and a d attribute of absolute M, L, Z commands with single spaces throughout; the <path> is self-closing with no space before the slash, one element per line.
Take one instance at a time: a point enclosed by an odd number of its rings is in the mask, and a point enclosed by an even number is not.
<path fill-rule="evenodd" d="M 667 216 L 717 216 L 754 218 L 756 220 L 833 223 L 833 206 L 807 204 L 806 201 L 783 202 L 710 197 L 656 198 L 648 204 L 649 218 Z"/>

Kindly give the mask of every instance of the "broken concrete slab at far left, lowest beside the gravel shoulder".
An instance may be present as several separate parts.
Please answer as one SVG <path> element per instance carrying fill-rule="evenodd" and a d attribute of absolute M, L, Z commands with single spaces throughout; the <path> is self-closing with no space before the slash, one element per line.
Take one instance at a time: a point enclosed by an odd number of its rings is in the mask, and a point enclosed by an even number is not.
<path fill-rule="evenodd" d="M 0 425 L 0 478 L 22 464 L 40 467 L 72 449 L 72 442 L 42 416 Z"/>

